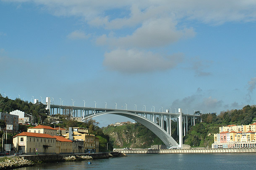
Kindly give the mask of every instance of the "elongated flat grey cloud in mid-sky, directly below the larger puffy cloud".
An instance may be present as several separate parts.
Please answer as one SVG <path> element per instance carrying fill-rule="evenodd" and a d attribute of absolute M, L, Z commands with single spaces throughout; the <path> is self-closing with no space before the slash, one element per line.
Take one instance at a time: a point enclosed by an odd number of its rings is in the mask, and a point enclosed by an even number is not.
<path fill-rule="evenodd" d="M 104 66 L 111 70 L 125 73 L 144 73 L 172 69 L 183 60 L 182 54 L 162 57 L 159 54 L 136 49 L 117 49 L 105 53 L 104 56 Z"/>

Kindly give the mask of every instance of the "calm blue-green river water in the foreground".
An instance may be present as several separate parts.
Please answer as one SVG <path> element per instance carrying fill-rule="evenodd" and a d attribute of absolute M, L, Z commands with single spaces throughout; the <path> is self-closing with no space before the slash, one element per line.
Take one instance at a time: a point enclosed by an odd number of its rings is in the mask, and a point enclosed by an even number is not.
<path fill-rule="evenodd" d="M 256 154 L 128 154 L 102 160 L 56 162 L 16 170 L 252 170 Z"/>

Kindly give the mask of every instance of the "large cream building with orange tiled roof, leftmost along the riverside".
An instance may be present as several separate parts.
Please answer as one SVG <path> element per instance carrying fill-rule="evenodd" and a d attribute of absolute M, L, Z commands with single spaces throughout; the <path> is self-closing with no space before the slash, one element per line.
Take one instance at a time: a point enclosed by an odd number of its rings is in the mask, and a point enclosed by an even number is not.
<path fill-rule="evenodd" d="M 56 138 L 50 134 L 22 132 L 13 137 L 13 147 L 28 155 L 55 154 Z"/>

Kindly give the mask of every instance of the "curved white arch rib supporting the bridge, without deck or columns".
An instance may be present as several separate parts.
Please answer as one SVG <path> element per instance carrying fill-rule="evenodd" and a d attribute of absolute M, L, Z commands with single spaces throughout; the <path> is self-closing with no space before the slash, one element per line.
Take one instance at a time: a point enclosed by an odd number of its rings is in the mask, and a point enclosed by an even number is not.
<path fill-rule="evenodd" d="M 96 114 L 90 114 L 86 115 L 82 121 L 86 121 L 87 119 L 91 119 L 97 116 L 101 116 L 104 114 L 117 114 L 124 117 L 128 117 L 130 119 L 135 120 L 136 122 L 139 122 L 143 124 L 145 127 L 147 127 L 149 130 L 151 130 L 154 134 L 156 134 L 162 142 L 165 143 L 167 148 L 170 147 L 179 147 L 179 144 L 171 137 L 170 134 L 168 134 L 165 129 L 162 129 L 158 124 L 152 122 L 151 120 L 142 117 L 138 114 L 132 113 L 132 112 L 125 112 L 125 111 L 108 111 L 108 112 L 99 112 Z"/>

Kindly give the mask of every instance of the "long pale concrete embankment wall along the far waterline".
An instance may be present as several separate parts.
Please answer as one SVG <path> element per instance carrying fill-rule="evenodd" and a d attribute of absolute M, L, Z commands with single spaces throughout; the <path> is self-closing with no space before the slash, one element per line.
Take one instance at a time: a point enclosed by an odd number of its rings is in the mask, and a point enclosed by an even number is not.
<path fill-rule="evenodd" d="M 123 150 L 116 149 L 115 152 L 122 152 L 125 154 L 129 153 L 169 153 L 169 154 L 177 154 L 177 153 L 256 153 L 256 148 L 219 148 L 219 149 L 170 149 L 170 150 L 148 150 L 148 149 L 132 149 L 132 150 Z"/>

